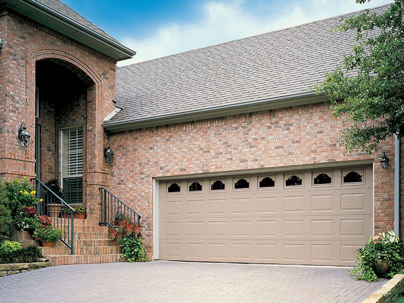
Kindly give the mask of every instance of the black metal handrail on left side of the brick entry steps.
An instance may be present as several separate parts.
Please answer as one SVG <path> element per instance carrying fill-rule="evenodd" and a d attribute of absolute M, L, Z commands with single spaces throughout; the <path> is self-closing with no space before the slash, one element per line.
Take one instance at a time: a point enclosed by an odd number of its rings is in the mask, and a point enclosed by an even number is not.
<path fill-rule="evenodd" d="M 51 217 L 54 227 L 63 230 L 60 240 L 70 248 L 71 255 L 74 255 L 74 209 L 37 178 L 32 178 L 31 181 L 36 188 L 36 197 L 40 199 L 36 207 L 38 214 Z M 67 211 L 62 212 L 62 209 Z"/>

